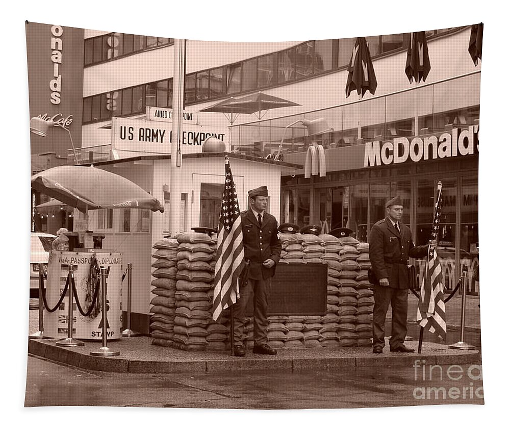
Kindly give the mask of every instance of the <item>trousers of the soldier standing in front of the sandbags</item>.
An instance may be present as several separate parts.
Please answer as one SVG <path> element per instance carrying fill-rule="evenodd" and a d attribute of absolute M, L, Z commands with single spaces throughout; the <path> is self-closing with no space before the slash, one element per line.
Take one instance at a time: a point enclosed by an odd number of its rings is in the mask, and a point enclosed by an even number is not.
<path fill-rule="evenodd" d="M 240 298 L 234 304 L 234 345 L 243 345 L 243 319 L 250 295 L 253 294 L 253 344 L 267 344 L 267 305 L 271 292 L 271 278 L 248 279 L 248 284 L 239 288 Z"/>

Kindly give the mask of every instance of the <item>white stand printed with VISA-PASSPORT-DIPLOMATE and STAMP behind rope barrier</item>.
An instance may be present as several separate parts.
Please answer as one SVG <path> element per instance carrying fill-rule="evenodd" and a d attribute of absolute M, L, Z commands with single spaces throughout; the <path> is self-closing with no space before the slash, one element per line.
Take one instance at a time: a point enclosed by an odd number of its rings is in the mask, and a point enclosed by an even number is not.
<path fill-rule="evenodd" d="M 90 263 L 94 253 L 50 251 L 48 260 L 48 277 L 46 300 L 48 307 L 55 307 L 65 287 L 69 265 L 73 265 L 74 284 L 78 293 L 78 300 L 83 311 L 87 311 L 87 281 L 89 278 Z M 97 263 L 100 267 L 110 268 L 107 278 L 107 338 L 120 339 L 122 327 L 121 307 L 121 278 L 122 253 L 96 252 Z M 71 289 L 69 284 L 69 289 Z M 95 288 L 92 289 L 92 291 Z M 68 294 L 68 293 L 67 293 Z M 92 298 L 93 292 L 90 295 Z M 102 302 L 101 290 L 97 296 Z M 100 304 L 99 304 L 100 305 Z M 98 306 L 99 306 L 98 305 Z M 100 341 L 103 339 L 103 315 L 100 309 L 94 309 L 92 315 L 84 317 L 73 298 L 72 337 L 76 339 L 90 339 Z M 44 313 L 44 334 L 46 336 L 64 339 L 68 333 L 68 295 L 65 296 L 60 307 L 53 313 Z"/>

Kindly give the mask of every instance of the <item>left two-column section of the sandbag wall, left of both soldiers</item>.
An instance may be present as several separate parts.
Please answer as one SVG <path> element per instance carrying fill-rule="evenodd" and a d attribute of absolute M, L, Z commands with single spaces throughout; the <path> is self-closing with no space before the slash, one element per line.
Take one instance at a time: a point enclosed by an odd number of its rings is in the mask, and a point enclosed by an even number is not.
<path fill-rule="evenodd" d="M 195 232 L 158 241 L 152 258 L 152 344 L 222 350 L 229 329 L 212 320 L 216 237 Z"/>

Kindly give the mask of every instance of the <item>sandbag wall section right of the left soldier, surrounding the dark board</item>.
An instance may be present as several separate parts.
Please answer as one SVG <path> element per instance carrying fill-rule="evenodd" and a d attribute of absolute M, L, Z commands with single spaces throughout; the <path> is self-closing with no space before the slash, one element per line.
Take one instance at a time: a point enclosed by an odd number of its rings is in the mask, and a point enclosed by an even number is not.
<path fill-rule="evenodd" d="M 368 243 L 333 235 L 279 234 L 281 264 L 327 264 L 326 315 L 269 317 L 274 348 L 369 346 L 373 293 Z"/>

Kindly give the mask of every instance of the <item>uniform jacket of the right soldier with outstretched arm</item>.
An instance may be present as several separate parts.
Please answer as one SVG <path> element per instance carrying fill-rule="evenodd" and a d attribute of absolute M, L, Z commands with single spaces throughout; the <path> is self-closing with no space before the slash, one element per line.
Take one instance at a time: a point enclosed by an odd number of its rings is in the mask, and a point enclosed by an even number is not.
<path fill-rule="evenodd" d="M 407 259 L 427 255 L 428 245 L 415 246 L 411 229 L 400 223 L 400 232 L 388 218 L 372 226 L 369 237 L 369 256 L 377 280 L 387 278 L 391 288 L 408 289 Z"/>

